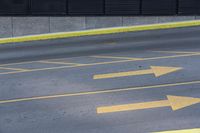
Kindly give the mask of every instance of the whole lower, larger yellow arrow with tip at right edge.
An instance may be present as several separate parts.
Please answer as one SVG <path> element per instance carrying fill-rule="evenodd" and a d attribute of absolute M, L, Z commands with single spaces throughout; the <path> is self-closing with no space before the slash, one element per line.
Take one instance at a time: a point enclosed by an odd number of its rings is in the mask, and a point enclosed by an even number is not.
<path fill-rule="evenodd" d="M 200 98 L 182 97 L 182 96 L 167 96 L 167 100 L 152 101 L 144 103 L 124 104 L 116 106 L 98 107 L 97 113 L 112 113 L 121 111 L 134 111 L 150 108 L 171 107 L 173 111 L 200 103 Z"/>

